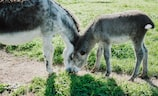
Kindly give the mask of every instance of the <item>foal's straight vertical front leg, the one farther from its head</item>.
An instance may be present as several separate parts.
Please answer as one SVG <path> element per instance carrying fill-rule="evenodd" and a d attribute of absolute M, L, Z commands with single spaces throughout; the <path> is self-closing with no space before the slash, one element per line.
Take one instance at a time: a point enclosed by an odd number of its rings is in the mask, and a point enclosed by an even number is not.
<path fill-rule="evenodd" d="M 106 74 L 105 74 L 105 76 L 109 76 L 111 74 L 110 56 L 111 56 L 111 46 L 109 44 L 106 44 L 104 46 L 104 58 L 106 60 Z"/>

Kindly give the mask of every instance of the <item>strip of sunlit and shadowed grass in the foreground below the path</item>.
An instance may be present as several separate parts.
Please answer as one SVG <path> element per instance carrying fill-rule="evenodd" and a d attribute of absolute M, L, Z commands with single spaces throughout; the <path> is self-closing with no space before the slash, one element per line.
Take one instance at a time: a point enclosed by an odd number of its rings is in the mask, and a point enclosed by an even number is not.
<path fill-rule="evenodd" d="M 157 96 L 157 88 L 147 83 L 133 83 L 102 75 L 77 76 L 60 72 L 47 79 L 35 78 L 25 87 L 15 90 L 11 96 Z"/>

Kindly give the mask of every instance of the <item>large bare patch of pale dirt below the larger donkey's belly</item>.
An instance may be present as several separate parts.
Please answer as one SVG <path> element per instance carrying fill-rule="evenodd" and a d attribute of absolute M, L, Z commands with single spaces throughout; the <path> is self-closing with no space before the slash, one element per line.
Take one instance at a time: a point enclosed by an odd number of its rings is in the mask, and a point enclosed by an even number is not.
<path fill-rule="evenodd" d="M 0 83 L 22 84 L 34 77 L 45 77 L 45 64 L 26 57 L 16 57 L 0 50 Z"/>

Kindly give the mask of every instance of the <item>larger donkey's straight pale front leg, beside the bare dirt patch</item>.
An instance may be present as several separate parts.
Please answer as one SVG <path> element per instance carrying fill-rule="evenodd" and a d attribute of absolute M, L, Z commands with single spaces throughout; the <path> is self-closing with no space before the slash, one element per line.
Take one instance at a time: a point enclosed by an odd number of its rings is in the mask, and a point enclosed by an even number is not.
<path fill-rule="evenodd" d="M 52 46 L 52 36 L 43 37 L 43 51 L 46 63 L 46 70 L 49 74 L 52 74 L 52 58 L 54 55 L 54 48 Z"/>

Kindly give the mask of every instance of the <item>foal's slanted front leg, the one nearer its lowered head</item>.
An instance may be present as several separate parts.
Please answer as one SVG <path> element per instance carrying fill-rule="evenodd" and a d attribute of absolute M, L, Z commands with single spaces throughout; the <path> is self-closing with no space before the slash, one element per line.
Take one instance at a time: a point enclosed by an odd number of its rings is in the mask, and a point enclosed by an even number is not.
<path fill-rule="evenodd" d="M 101 45 L 99 45 L 98 50 L 97 50 L 96 62 L 95 62 L 95 65 L 94 65 L 93 69 L 91 70 L 92 73 L 99 70 L 99 68 L 100 68 L 100 59 L 101 59 L 102 53 L 103 53 L 103 48 L 102 48 Z"/>

